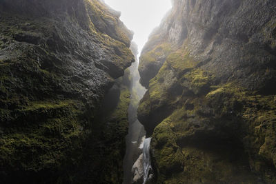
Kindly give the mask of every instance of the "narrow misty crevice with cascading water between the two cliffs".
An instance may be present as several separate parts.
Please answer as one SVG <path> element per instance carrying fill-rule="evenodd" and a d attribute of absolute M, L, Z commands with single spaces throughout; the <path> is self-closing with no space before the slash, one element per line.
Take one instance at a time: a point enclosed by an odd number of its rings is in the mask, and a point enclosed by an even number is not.
<path fill-rule="evenodd" d="M 135 43 L 130 45 L 132 53 L 137 56 Z M 139 83 L 137 57 L 136 62 L 130 66 L 132 88 L 130 90 L 130 106 L 128 108 L 128 135 L 126 136 L 126 154 L 124 157 L 124 182 L 123 184 L 145 184 L 152 178 L 150 163 L 150 141 L 145 138 L 144 126 L 137 119 L 137 108 L 146 89 Z M 139 145 L 139 143 L 141 143 Z"/>

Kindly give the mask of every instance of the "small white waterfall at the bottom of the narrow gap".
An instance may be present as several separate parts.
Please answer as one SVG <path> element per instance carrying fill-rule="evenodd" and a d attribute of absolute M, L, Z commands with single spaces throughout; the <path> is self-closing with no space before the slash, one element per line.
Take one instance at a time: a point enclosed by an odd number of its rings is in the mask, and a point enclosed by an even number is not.
<path fill-rule="evenodd" d="M 150 165 L 150 141 L 151 141 L 151 138 L 145 139 L 144 146 L 143 146 L 143 167 L 144 167 L 143 184 L 146 184 L 146 182 L 148 181 L 148 178 L 151 177 L 150 171 L 152 170 L 152 167 Z"/>

